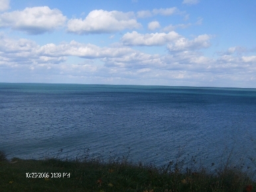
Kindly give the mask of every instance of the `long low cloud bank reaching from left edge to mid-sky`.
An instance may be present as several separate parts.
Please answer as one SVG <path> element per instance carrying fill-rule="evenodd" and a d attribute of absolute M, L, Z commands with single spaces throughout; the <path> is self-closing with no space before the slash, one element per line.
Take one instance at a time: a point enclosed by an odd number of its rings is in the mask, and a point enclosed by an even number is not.
<path fill-rule="evenodd" d="M 56 60 L 61 62 L 67 56 L 78 56 L 80 58 L 113 58 L 122 57 L 137 52 L 126 46 L 99 47 L 94 44 L 83 44 L 72 40 L 62 44 L 45 44 L 39 46 L 36 42 L 21 38 L 15 40 L 0 36 L 0 56 L 15 60 L 27 58 L 27 60 L 42 60 L 44 62 Z"/>

